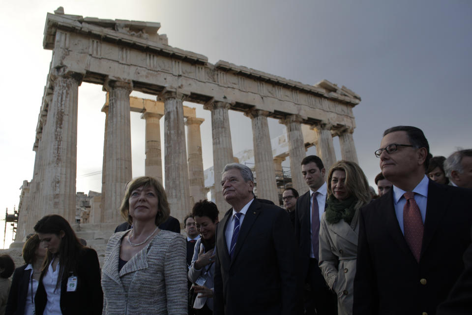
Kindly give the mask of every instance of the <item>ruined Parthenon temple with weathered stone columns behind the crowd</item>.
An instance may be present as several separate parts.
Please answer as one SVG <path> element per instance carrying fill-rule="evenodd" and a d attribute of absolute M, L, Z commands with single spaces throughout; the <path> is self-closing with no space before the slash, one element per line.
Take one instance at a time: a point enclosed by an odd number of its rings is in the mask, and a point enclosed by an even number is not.
<path fill-rule="evenodd" d="M 200 124 L 195 110 L 183 102 L 203 104 L 211 111 L 215 202 L 226 209 L 221 171 L 234 161 L 229 110 L 252 121 L 258 195 L 278 204 L 274 157 L 267 118 L 287 127 L 292 185 L 306 191 L 299 163 L 305 156 L 302 124 L 313 130 L 317 154 L 326 169 L 335 161 L 332 138 L 339 137 L 343 159 L 357 162 L 353 107 L 360 96 L 326 80 L 302 84 L 168 45 L 159 23 L 107 20 L 48 13 L 43 47 L 52 60 L 42 98 L 33 177 L 25 196 L 18 237 L 32 230 L 46 214 L 75 221 L 78 89 L 82 82 L 108 92 L 102 171 L 101 222 L 119 223 L 126 183 L 131 180 L 130 111 L 146 121 L 146 175 L 162 181 L 159 119 L 164 117 L 164 185 L 171 214 L 182 221 L 195 200 L 206 195 L 203 184 Z M 156 101 L 130 97 L 132 91 L 154 95 Z M 187 126 L 188 143 L 185 141 Z M 233 135 L 237 136 L 237 135 Z M 95 214 L 97 217 L 97 214 Z M 18 238 L 17 238 L 18 239 Z"/>

